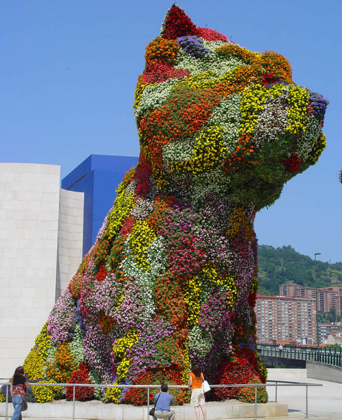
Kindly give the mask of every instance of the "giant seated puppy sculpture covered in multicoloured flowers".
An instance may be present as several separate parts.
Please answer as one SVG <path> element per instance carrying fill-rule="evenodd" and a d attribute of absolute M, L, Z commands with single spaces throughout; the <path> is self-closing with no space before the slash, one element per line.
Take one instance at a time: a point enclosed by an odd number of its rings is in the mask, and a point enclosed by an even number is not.
<path fill-rule="evenodd" d="M 139 163 L 25 372 L 44 382 L 186 384 L 194 362 L 211 383 L 264 381 L 253 222 L 318 160 L 327 101 L 297 86 L 278 53 L 196 27 L 176 5 L 145 57 L 134 103 Z M 146 402 L 138 389 L 84 390 L 77 398 Z M 64 392 L 33 390 L 40 401 Z M 188 398 L 171 392 L 176 403 Z"/>

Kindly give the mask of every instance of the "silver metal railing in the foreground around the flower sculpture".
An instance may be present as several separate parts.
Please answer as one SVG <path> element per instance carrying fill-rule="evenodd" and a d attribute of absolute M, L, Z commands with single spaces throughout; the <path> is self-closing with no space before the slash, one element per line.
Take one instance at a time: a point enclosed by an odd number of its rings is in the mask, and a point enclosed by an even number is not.
<path fill-rule="evenodd" d="M 269 383 L 275 382 L 275 383 Z M 6 418 L 8 420 L 8 391 L 10 382 L 0 382 L 0 385 L 6 385 Z M 73 388 L 73 398 L 72 398 L 72 420 L 75 420 L 75 388 L 76 387 L 94 387 L 94 388 L 147 388 L 147 413 L 149 418 L 150 413 L 150 389 L 158 388 L 160 389 L 160 385 L 113 385 L 113 384 L 86 384 L 86 383 L 32 383 L 33 386 L 72 386 Z M 278 398 L 278 387 L 279 386 L 305 386 L 305 418 L 307 419 L 309 416 L 309 399 L 308 399 L 308 387 L 309 386 L 322 386 L 321 383 L 299 383 L 299 382 L 286 382 L 286 381 L 274 381 L 270 380 L 267 381 L 266 384 L 264 383 L 253 383 L 253 384 L 229 384 L 229 385 L 210 385 L 213 388 L 235 388 L 235 387 L 254 387 L 255 388 L 255 420 L 256 418 L 256 408 L 257 408 L 257 388 L 259 386 L 267 386 L 267 387 L 275 387 L 276 388 L 276 402 Z M 187 385 L 169 385 L 169 388 L 188 388 Z"/>

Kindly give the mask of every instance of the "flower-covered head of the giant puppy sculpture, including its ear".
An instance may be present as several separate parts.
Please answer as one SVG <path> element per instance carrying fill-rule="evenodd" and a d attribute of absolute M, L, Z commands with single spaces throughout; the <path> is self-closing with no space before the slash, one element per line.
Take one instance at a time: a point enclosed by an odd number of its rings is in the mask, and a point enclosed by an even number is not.
<path fill-rule="evenodd" d="M 328 102 L 297 86 L 280 54 L 196 27 L 172 5 L 145 58 L 134 103 L 139 164 L 159 190 L 221 193 L 258 210 L 324 149 Z"/>

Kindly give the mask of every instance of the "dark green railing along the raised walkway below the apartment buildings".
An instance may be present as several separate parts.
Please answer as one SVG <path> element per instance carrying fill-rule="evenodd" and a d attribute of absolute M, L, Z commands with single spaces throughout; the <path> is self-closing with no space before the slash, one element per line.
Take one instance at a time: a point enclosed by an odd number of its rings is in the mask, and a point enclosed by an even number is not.
<path fill-rule="evenodd" d="M 256 347 L 258 353 L 263 356 L 285 357 L 287 359 L 311 360 L 314 362 L 327 363 L 333 366 L 342 367 L 341 349 L 321 348 L 320 352 L 314 348 L 305 347 L 284 347 L 279 350 L 275 344 L 258 344 Z M 323 350 L 324 349 L 324 350 Z"/>

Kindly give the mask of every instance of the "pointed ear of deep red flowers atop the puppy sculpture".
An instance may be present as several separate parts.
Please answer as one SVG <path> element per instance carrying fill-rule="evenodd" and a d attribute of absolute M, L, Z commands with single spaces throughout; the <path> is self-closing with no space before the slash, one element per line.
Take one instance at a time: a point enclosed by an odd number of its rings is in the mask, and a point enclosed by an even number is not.
<path fill-rule="evenodd" d="M 196 35 L 196 33 L 196 25 L 179 6 L 173 3 L 164 18 L 160 36 L 168 40 L 175 40 L 186 35 Z"/>

